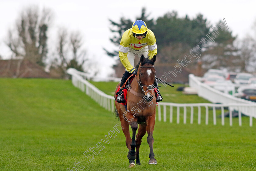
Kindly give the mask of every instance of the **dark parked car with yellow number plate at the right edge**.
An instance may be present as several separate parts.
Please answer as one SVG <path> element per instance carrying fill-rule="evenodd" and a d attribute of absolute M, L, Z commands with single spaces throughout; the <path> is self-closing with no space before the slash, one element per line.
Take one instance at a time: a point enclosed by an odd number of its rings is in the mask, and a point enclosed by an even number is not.
<path fill-rule="evenodd" d="M 241 86 L 237 89 L 235 97 L 256 102 L 256 87 Z"/>

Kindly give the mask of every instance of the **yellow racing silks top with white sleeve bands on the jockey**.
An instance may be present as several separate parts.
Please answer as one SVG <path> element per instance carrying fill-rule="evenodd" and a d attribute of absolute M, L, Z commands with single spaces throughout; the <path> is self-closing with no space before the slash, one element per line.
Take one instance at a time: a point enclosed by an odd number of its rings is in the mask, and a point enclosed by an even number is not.
<path fill-rule="evenodd" d="M 133 36 L 132 29 L 128 29 L 124 32 L 119 45 L 119 58 L 126 71 L 131 71 L 133 69 L 133 66 L 130 64 L 127 57 L 129 48 L 139 51 L 145 46 L 148 46 L 148 59 L 152 59 L 153 56 L 156 55 L 157 47 L 155 35 L 151 30 L 148 29 L 146 36 L 141 40 L 138 40 Z"/>

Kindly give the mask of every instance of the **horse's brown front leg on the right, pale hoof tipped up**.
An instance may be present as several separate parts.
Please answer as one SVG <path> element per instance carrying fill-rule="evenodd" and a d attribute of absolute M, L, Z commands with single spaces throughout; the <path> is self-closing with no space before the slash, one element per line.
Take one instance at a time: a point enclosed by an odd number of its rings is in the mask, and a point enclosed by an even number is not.
<path fill-rule="evenodd" d="M 149 116 L 147 119 L 147 132 L 148 132 L 148 145 L 149 145 L 149 161 L 148 164 L 157 164 L 157 161 L 155 159 L 155 154 L 153 152 L 153 143 L 154 143 L 154 138 L 153 138 L 153 131 L 155 127 L 155 114 L 152 116 Z"/>

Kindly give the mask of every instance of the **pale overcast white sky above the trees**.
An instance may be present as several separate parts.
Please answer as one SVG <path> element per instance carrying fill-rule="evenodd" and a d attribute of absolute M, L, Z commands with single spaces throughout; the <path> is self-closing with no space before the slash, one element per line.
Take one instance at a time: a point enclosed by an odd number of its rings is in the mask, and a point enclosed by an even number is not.
<path fill-rule="evenodd" d="M 138 3 L 136 3 L 138 2 Z M 113 72 L 110 59 L 103 48 L 117 50 L 118 47 L 111 45 L 109 38 L 110 22 L 108 19 L 119 21 L 125 17 L 135 20 L 141 14 L 141 9 L 146 8 L 150 18 L 157 19 L 167 12 L 173 10 L 178 12 L 179 17 L 186 14 L 194 18 L 198 13 L 204 15 L 210 24 L 216 25 L 222 18 L 226 19 L 228 27 L 233 35 L 243 38 L 252 33 L 252 25 L 256 20 L 255 0 L 148 0 L 148 1 L 81 1 L 81 0 L 0 0 L 0 55 L 4 58 L 10 56 L 9 50 L 4 44 L 7 30 L 14 27 L 20 12 L 30 5 L 38 5 L 50 8 L 54 12 L 54 20 L 49 33 L 51 50 L 56 47 L 57 28 L 66 27 L 69 32 L 79 30 L 83 36 L 84 48 L 87 50 L 88 58 L 98 60 L 101 74 Z M 142 5 L 141 5 L 142 4 Z"/>

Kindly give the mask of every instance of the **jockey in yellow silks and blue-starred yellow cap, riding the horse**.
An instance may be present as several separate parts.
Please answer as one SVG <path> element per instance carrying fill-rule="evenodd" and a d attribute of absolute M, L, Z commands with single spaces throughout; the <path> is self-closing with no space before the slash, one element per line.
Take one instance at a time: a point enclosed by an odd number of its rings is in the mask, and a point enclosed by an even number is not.
<path fill-rule="evenodd" d="M 119 58 L 125 67 L 125 73 L 121 79 L 120 88 L 124 85 L 126 79 L 130 75 L 137 75 L 138 70 L 134 69 L 135 55 L 138 55 L 139 58 L 141 55 L 144 55 L 145 58 L 152 59 L 153 56 L 156 55 L 156 52 L 157 48 L 154 33 L 147 28 L 144 21 L 137 20 L 133 22 L 132 28 L 124 32 L 119 45 Z M 162 96 L 160 95 L 156 79 L 154 86 L 157 88 L 158 93 L 156 102 L 162 101 Z M 119 90 L 116 94 L 116 102 L 125 102 L 123 91 Z"/>

